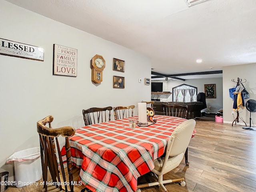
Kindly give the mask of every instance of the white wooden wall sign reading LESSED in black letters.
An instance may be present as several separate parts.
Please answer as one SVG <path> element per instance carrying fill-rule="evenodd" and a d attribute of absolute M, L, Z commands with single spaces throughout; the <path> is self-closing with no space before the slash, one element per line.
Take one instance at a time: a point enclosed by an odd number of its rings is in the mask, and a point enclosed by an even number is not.
<path fill-rule="evenodd" d="M 0 38 L 0 54 L 44 61 L 44 48 Z"/>

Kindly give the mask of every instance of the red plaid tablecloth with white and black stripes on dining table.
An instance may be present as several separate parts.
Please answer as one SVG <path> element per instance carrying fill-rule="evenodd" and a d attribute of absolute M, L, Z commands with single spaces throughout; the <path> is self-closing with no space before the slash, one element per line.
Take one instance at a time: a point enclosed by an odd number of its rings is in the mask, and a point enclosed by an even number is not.
<path fill-rule="evenodd" d="M 154 168 L 170 135 L 186 119 L 155 115 L 150 126 L 129 128 L 130 119 L 79 128 L 70 138 L 72 162 L 93 192 L 135 192 L 137 178 Z"/>

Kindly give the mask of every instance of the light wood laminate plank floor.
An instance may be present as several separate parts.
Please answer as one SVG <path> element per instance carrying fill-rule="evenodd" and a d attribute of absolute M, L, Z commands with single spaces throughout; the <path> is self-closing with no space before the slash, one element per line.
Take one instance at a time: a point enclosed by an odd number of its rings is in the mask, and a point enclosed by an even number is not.
<path fill-rule="evenodd" d="M 190 141 L 188 160 L 164 175 L 164 179 L 184 177 L 186 186 L 166 184 L 169 192 L 255 192 L 256 131 L 217 122 L 196 120 L 196 136 Z M 149 175 L 138 182 L 154 181 Z M 142 192 L 163 192 L 158 186 Z M 9 187 L 6 192 L 41 191 L 35 186 Z"/>

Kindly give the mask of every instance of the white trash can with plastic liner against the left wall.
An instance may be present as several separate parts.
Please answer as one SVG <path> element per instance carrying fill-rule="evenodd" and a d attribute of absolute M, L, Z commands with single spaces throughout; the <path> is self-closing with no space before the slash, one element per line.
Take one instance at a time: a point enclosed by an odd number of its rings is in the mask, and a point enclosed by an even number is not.
<path fill-rule="evenodd" d="M 42 178 L 39 147 L 15 152 L 7 159 L 7 163 L 12 161 L 14 161 L 16 187 L 30 185 Z"/>

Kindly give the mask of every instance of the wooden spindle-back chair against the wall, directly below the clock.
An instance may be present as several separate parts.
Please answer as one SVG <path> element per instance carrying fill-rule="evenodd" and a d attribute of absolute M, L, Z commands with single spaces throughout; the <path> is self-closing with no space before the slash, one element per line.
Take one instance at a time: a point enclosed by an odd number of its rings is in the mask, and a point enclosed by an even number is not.
<path fill-rule="evenodd" d="M 83 109 L 83 116 L 84 116 L 84 124 L 91 125 L 101 122 L 106 122 L 107 120 L 111 120 L 111 110 L 112 107 L 104 107 L 104 108 L 89 108 Z M 107 119 L 108 116 L 108 119 Z"/>

